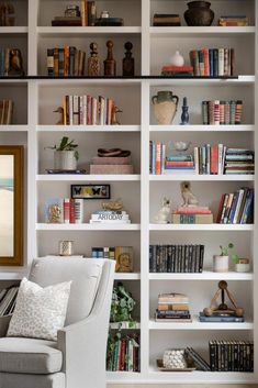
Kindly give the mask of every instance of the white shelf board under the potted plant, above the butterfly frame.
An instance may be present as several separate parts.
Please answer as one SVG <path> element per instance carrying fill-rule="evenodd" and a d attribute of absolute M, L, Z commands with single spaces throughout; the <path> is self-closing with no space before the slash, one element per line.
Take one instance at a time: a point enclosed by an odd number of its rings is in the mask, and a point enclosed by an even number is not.
<path fill-rule="evenodd" d="M 49 174 L 37 175 L 37 181 L 139 181 L 141 176 L 135 175 L 81 175 L 81 174 Z"/>

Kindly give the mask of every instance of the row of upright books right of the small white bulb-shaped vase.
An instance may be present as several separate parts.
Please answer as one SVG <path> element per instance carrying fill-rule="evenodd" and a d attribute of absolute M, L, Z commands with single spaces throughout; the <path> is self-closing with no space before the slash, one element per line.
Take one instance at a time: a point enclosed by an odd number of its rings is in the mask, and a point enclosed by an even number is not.
<path fill-rule="evenodd" d="M 194 76 L 224 77 L 234 75 L 234 48 L 203 48 L 189 53 Z"/>

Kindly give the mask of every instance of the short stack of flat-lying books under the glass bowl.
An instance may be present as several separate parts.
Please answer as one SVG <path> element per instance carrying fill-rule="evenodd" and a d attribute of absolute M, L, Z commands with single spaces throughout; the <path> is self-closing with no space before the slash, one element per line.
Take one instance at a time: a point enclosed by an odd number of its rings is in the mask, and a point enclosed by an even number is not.
<path fill-rule="evenodd" d="M 175 171 L 181 171 L 189 174 L 194 171 L 193 155 L 191 154 L 178 154 L 167 156 L 165 160 L 165 174 L 173 174 Z"/>

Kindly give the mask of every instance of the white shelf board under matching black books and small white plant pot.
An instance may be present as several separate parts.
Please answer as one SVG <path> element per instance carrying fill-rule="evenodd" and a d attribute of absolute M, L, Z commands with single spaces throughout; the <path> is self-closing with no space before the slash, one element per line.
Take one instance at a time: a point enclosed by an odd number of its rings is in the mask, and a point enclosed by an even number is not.
<path fill-rule="evenodd" d="M 149 274 L 149 280 L 216 280 L 220 281 L 221 279 L 224 280 L 239 280 L 239 281 L 253 281 L 254 274 L 253 273 L 236 273 L 236 271 L 228 271 L 224 273 L 223 276 L 221 273 L 213 273 L 211 270 L 203 270 L 201 274 Z"/>

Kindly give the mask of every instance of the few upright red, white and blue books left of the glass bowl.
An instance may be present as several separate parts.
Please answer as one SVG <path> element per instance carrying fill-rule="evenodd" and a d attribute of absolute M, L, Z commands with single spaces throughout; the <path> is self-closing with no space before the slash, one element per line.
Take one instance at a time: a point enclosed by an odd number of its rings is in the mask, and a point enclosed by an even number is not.
<path fill-rule="evenodd" d="M 149 141 L 149 174 L 161 175 L 165 173 L 166 144 Z"/>

